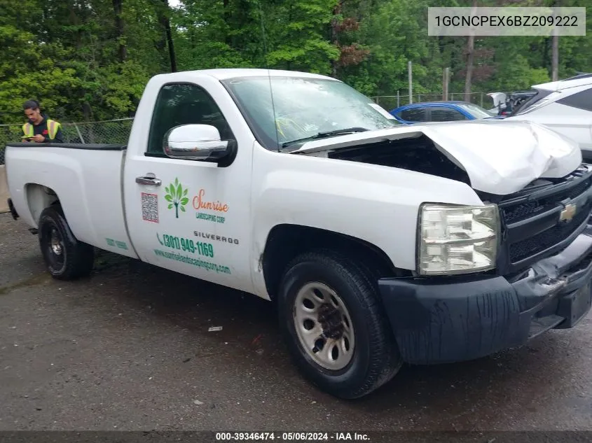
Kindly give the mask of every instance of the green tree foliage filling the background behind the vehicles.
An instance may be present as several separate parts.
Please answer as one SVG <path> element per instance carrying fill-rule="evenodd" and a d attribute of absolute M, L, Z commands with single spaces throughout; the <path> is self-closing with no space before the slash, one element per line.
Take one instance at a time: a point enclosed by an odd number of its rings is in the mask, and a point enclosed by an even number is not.
<path fill-rule="evenodd" d="M 467 38 L 427 35 L 429 6 L 473 0 L 0 0 L 0 123 L 35 98 L 62 121 L 133 116 L 156 73 L 260 67 L 335 76 L 370 96 L 462 92 Z M 479 6 L 588 0 L 479 0 Z M 172 0 L 171 0 L 171 3 Z M 592 14 L 588 14 L 588 33 Z M 479 37 L 471 90 L 551 78 L 551 38 Z M 559 38 L 560 78 L 592 71 L 589 36 Z"/>

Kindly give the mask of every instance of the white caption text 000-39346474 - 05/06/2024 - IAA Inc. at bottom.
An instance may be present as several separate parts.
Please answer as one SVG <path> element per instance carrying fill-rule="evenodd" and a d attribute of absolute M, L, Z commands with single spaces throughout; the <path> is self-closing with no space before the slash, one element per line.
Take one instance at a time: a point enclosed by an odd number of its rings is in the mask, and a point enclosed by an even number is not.
<path fill-rule="evenodd" d="M 216 433 L 216 442 L 272 441 L 272 442 L 330 442 L 330 441 L 370 441 L 365 433 Z"/>

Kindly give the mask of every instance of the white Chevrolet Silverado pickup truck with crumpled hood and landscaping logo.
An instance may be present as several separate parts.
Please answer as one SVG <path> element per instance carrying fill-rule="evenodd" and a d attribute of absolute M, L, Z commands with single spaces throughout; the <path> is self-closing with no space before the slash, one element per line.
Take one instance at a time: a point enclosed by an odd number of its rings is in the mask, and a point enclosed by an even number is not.
<path fill-rule="evenodd" d="M 272 300 L 340 398 L 590 309 L 592 166 L 528 122 L 405 126 L 333 78 L 190 71 L 149 80 L 128 146 L 13 143 L 6 167 L 55 278 L 101 248 Z"/>

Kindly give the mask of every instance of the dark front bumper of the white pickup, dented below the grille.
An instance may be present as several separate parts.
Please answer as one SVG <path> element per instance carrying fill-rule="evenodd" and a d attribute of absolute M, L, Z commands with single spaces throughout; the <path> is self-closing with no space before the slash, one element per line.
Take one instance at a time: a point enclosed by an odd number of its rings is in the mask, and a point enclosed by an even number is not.
<path fill-rule="evenodd" d="M 592 225 L 560 253 L 520 276 L 380 279 L 406 363 L 472 360 L 572 328 L 591 307 Z"/>

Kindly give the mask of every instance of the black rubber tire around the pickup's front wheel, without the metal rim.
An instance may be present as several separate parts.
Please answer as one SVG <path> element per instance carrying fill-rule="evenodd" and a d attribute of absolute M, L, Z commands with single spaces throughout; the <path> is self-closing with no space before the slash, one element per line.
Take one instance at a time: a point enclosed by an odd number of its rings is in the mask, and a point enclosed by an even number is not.
<path fill-rule="evenodd" d="M 345 304 L 353 323 L 351 360 L 338 370 L 319 365 L 305 351 L 296 332 L 297 295 L 312 282 L 331 288 Z M 280 284 L 280 330 L 296 366 L 313 384 L 338 398 L 353 399 L 371 393 L 397 374 L 401 356 L 380 304 L 377 284 L 366 267 L 333 251 L 304 253 L 288 265 Z"/>

